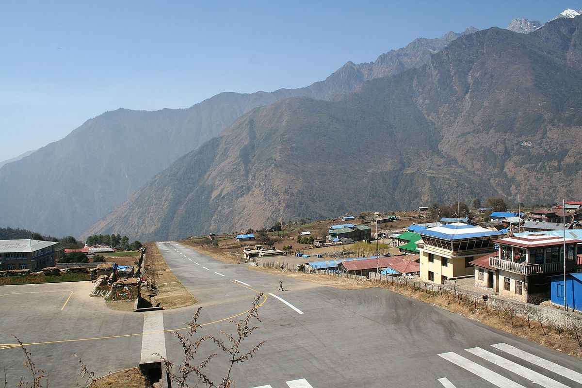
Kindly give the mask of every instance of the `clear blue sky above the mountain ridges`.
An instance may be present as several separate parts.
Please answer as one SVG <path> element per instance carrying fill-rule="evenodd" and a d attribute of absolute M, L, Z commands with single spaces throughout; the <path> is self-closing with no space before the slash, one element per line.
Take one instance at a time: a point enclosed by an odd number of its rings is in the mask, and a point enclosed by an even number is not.
<path fill-rule="evenodd" d="M 371 62 L 417 37 L 542 23 L 568 1 L 0 2 L 0 161 L 119 107 L 186 108 Z"/>

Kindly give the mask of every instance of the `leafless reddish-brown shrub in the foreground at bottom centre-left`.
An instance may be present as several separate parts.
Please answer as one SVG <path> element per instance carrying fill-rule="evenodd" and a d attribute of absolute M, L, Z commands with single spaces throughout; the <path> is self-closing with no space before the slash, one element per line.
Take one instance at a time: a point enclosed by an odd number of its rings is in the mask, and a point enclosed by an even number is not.
<path fill-rule="evenodd" d="M 215 336 L 202 336 L 198 339 L 194 339 L 197 330 L 202 328 L 202 326 L 198 325 L 197 323 L 202 308 L 198 308 L 196 314 L 194 314 L 190 322 L 185 323 L 188 325 L 187 334 L 175 332 L 175 336 L 178 338 L 178 341 L 182 345 L 182 350 L 184 352 L 184 361 L 182 364 L 174 364 L 162 355 L 158 355 L 164 360 L 166 372 L 173 382 L 178 383 L 178 387 L 190 387 L 187 382 L 190 375 L 197 376 L 198 378 L 196 385 L 194 385 L 195 387 L 200 386 L 200 384 L 203 384 L 203 386 L 206 388 L 229 388 L 233 386 L 233 382 L 230 379 L 230 372 L 232 371 L 233 366 L 253 358 L 261 345 L 265 343 L 265 341 L 260 341 L 248 351 L 241 350 L 241 345 L 244 339 L 247 339 L 247 337 L 249 337 L 254 332 L 254 330 L 258 329 L 258 326 L 252 325 L 251 322 L 255 320 L 261 322 L 261 319 L 258 316 L 258 307 L 262 296 L 263 294 L 260 293 L 257 295 L 257 297 L 255 297 L 253 305 L 249 311 L 247 311 L 244 319 L 240 321 L 232 319 L 229 321 L 230 323 L 234 323 L 236 325 L 236 334 L 230 334 L 226 332 L 226 330 L 221 330 L 221 333 L 226 337 L 226 341 L 221 340 Z M 197 355 L 201 345 L 207 340 L 213 341 L 222 353 L 229 355 L 229 368 L 219 385 L 215 384 L 211 377 L 207 374 L 207 366 L 212 358 L 217 355 L 217 353 L 212 353 L 205 357 L 198 357 Z"/>

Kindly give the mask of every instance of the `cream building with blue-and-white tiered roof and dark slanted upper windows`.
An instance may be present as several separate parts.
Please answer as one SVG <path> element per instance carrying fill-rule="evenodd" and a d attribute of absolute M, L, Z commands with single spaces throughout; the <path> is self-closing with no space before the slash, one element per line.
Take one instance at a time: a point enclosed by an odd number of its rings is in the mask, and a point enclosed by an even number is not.
<path fill-rule="evenodd" d="M 473 259 L 494 252 L 493 240 L 499 237 L 494 230 L 465 223 L 430 227 L 418 232 L 420 277 L 443 284 L 452 277 L 473 275 Z"/>

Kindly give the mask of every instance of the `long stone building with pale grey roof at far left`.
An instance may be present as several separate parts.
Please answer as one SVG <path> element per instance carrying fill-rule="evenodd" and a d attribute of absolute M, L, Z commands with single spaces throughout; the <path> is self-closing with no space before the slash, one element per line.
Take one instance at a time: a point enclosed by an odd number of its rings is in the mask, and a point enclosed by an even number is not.
<path fill-rule="evenodd" d="M 31 269 L 55 265 L 64 248 L 59 243 L 42 240 L 0 240 L 0 269 Z"/>

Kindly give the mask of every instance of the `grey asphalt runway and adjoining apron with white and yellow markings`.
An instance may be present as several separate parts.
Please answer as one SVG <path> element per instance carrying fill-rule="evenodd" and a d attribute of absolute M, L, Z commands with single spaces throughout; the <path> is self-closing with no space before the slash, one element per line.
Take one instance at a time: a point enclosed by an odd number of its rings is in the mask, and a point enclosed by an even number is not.
<path fill-rule="evenodd" d="M 383 289 L 339 290 L 279 277 L 178 243 L 158 243 L 158 248 L 200 300 L 164 311 L 170 359 L 181 353 L 172 329 L 184 328 L 198 307 L 203 307 L 200 335 L 218 336 L 221 329 L 234 330 L 229 317 L 244 314 L 257 292 L 265 293 L 260 329 L 246 344 L 267 342 L 255 358 L 234 366 L 240 388 L 582 387 L 579 359 L 423 302 Z M 278 291 L 279 280 L 285 291 Z M 0 287 L 0 368 L 6 365 L 10 378 L 22 375 L 13 373 L 22 371 L 22 352 L 2 345 L 14 343 L 11 334 L 34 344 L 29 350 L 51 374 L 53 387 L 74 386 L 73 353 L 97 375 L 135 366 L 143 315 L 107 309 L 88 297 L 90 288 L 88 282 Z M 73 291 L 68 301 L 67 290 Z M 56 292 L 49 296 L 48 291 Z M 6 295 L 11 293 L 19 294 Z M 74 341 L 63 341 L 69 339 Z M 37 344 L 47 341 L 59 342 Z M 200 354 L 214 350 L 208 343 Z M 226 368 L 225 357 L 217 355 L 209 373 L 217 377 Z"/>

